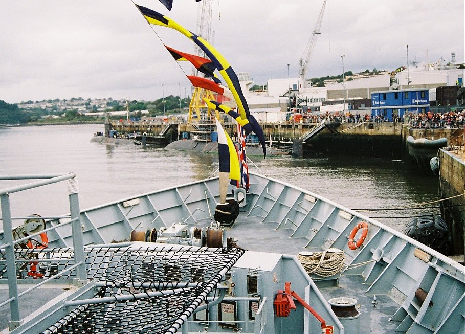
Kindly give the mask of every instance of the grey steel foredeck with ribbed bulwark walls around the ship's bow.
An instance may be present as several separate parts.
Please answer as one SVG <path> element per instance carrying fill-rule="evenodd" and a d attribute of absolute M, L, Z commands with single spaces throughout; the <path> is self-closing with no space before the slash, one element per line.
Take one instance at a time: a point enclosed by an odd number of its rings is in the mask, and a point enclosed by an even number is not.
<path fill-rule="evenodd" d="M 317 194 L 261 175 L 250 176 L 247 205 L 233 227 L 226 228 L 227 236 L 236 238 L 240 247 L 291 255 L 302 250 L 338 248 L 345 253 L 345 265 L 362 263 L 356 269 L 316 282 L 326 300 L 358 300 L 364 333 L 383 334 L 396 328 L 415 334 L 465 330 L 462 265 Z M 73 220 L 74 225 L 79 223 L 77 230 L 82 230 L 84 245 L 108 244 L 128 239 L 134 229 L 160 229 L 180 222 L 189 227 L 207 227 L 218 196 L 217 179 L 208 179 L 91 208 Z M 368 236 L 362 247 L 350 250 L 348 235 L 362 220 L 368 222 Z M 47 226 L 60 227 L 48 233 L 49 247 L 71 246 L 70 222 L 64 216 L 47 222 Z M 415 297 L 418 288 L 427 292 L 423 303 Z M 32 303 L 29 306 L 36 307 Z"/>

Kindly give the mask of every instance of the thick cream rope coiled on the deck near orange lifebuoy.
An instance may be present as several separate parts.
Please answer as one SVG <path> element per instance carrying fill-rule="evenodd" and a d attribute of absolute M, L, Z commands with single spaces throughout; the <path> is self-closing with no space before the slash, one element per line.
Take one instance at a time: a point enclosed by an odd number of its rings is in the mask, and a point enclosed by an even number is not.
<path fill-rule="evenodd" d="M 308 274 L 329 277 L 339 273 L 344 267 L 344 252 L 306 253 L 300 252 L 298 260 Z"/>

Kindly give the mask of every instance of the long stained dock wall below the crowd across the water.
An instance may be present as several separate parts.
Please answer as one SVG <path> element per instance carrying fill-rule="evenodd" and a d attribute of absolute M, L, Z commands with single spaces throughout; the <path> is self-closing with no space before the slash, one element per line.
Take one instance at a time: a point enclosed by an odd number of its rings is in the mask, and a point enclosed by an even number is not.
<path fill-rule="evenodd" d="M 121 133 L 147 132 L 149 136 L 159 136 L 168 125 L 166 123 L 112 123 L 113 129 Z M 454 138 L 461 140 L 463 136 L 463 129 L 414 129 L 406 124 L 393 122 L 330 123 L 318 135 L 302 142 L 302 148 L 300 148 L 298 140 L 312 129 L 315 123 L 261 123 L 260 125 L 269 144 L 292 148 L 293 143 L 297 143 L 299 147 L 294 150 L 295 153 L 301 152 L 303 155 L 311 153 L 349 154 L 404 161 L 409 161 L 410 158 L 407 149 L 408 136 L 430 140 L 448 138 L 449 145 L 454 145 Z M 223 127 L 231 137 L 236 137 L 235 123 L 225 122 Z M 166 134 L 167 142 L 181 139 L 183 132 L 191 133 L 194 130 L 194 127 L 188 123 L 172 124 Z M 424 165 L 429 164 L 429 159 L 425 159 Z M 418 159 L 411 162 L 410 165 L 417 164 Z"/>

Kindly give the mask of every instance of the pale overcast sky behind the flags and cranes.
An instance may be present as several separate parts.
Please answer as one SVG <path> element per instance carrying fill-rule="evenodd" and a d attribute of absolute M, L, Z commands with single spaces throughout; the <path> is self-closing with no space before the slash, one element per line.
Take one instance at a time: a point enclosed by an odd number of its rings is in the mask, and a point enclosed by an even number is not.
<path fill-rule="evenodd" d="M 136 3 L 197 32 L 195 0 Z M 322 0 L 213 0 L 212 44 L 236 72 L 256 84 L 298 76 Z M 18 103 L 72 97 L 155 100 L 190 95 L 162 41 L 194 53 L 179 33 L 147 24 L 130 0 L 0 2 L 0 100 Z M 344 70 L 395 70 L 409 60 L 464 62 L 464 2 L 327 0 L 308 77 Z M 159 38 L 160 36 L 160 38 Z M 428 57 L 428 58 L 427 58 Z M 163 84 L 163 87 L 162 87 Z M 186 88 L 186 90 L 185 90 Z"/>

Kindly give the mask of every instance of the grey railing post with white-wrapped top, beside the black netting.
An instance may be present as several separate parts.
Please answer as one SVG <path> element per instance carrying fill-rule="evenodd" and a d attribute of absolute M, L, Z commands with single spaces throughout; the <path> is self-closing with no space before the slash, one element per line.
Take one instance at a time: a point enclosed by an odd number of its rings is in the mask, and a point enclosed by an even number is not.
<path fill-rule="evenodd" d="M 81 263 L 76 268 L 76 276 L 79 284 L 85 284 L 87 280 L 87 272 L 85 269 L 84 257 L 84 240 L 81 229 L 81 211 L 79 208 L 78 186 L 77 179 L 74 177 L 67 181 L 68 195 L 70 197 L 70 214 L 71 219 L 77 218 L 71 223 L 71 231 L 73 233 L 73 248 L 74 248 L 74 263 Z"/>

